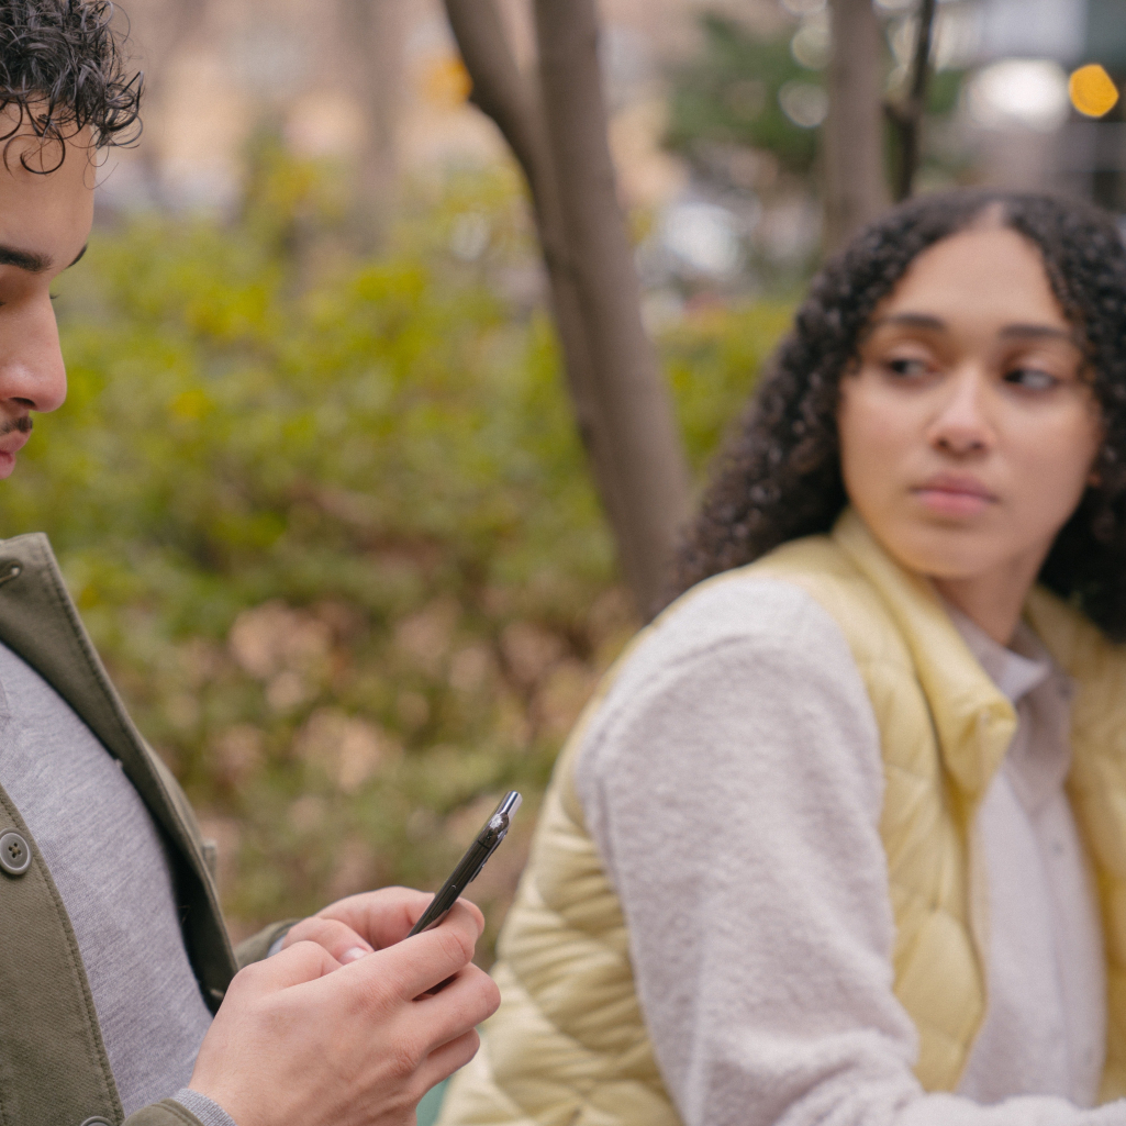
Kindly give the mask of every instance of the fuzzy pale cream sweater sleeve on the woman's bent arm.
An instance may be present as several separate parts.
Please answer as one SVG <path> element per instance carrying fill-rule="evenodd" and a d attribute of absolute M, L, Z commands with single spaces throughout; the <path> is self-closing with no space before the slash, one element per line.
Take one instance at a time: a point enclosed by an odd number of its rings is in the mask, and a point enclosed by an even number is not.
<path fill-rule="evenodd" d="M 928 1096 L 893 992 L 879 734 L 810 596 L 733 579 L 623 669 L 575 775 L 686 1126 L 1109 1126 L 1126 1106 Z"/>

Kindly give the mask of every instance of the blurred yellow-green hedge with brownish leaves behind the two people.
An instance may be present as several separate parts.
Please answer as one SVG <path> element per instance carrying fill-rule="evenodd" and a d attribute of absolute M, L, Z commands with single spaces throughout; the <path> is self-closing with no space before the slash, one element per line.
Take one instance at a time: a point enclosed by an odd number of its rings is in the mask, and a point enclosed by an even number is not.
<path fill-rule="evenodd" d="M 494 932 L 553 758 L 635 622 L 513 173 L 412 190 L 370 260 L 331 179 L 263 144 L 236 220 L 95 235 L 60 284 L 70 399 L 0 513 L 51 535 L 218 842 L 236 935 L 436 886 L 517 787 L 516 843 L 473 886 Z M 668 333 L 697 466 L 784 323 L 709 309 Z"/>

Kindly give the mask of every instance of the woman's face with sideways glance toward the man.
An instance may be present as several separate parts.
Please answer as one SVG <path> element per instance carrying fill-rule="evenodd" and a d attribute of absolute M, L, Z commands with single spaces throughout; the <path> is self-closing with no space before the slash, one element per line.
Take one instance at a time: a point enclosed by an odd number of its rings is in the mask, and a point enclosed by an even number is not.
<path fill-rule="evenodd" d="M 921 253 L 874 314 L 838 422 L 848 495 L 900 563 L 1030 584 L 1100 440 L 1035 245 L 983 227 Z"/>

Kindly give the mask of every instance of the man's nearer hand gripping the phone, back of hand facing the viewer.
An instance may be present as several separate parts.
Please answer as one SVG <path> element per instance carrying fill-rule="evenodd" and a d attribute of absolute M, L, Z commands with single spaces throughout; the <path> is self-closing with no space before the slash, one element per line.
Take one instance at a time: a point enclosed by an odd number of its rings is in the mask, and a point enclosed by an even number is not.
<path fill-rule="evenodd" d="M 458 902 L 439 927 L 400 941 L 429 896 L 388 892 L 355 896 L 369 901 L 352 917 L 355 933 L 381 947 L 366 957 L 341 966 L 295 940 L 235 976 L 193 1090 L 238 1126 L 413 1126 L 418 1100 L 473 1057 L 474 1026 L 500 994 L 470 960 L 482 929 L 475 908 Z"/>

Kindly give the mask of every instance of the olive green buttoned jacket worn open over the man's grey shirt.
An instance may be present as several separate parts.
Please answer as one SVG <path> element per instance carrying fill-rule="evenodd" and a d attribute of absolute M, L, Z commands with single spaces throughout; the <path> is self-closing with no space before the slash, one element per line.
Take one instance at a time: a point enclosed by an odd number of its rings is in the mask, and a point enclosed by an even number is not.
<path fill-rule="evenodd" d="M 212 1011 L 240 965 L 265 957 L 286 926 L 232 949 L 208 849 L 184 792 L 141 738 L 66 595 L 42 535 L 0 540 L 0 642 L 34 668 L 119 760 L 164 830 L 184 941 Z M 0 789 L 0 835 L 30 844 L 18 876 L 0 870 L 0 1126 L 126 1121 L 74 931 L 19 811 Z M 92 1126 L 91 1124 L 91 1126 Z M 177 1102 L 129 1115 L 127 1126 L 198 1126 Z"/>

